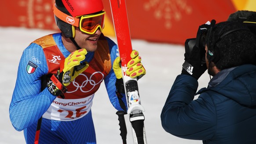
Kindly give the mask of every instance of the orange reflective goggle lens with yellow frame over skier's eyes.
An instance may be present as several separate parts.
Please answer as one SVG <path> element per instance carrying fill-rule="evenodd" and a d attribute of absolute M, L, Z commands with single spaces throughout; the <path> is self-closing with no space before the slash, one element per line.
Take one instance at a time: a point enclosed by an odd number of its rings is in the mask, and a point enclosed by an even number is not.
<path fill-rule="evenodd" d="M 102 11 L 99 14 L 83 15 L 80 17 L 79 28 L 82 32 L 93 34 L 100 29 L 104 29 L 104 17 L 106 12 Z"/>

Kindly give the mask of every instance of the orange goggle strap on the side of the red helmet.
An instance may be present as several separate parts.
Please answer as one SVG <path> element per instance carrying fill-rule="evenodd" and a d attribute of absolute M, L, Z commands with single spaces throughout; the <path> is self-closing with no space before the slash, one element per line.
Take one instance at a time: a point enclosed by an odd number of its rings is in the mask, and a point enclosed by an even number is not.
<path fill-rule="evenodd" d="M 63 13 L 55 6 L 55 4 L 53 5 L 53 13 L 55 14 L 56 17 L 58 17 L 62 21 L 66 22 L 70 25 L 79 27 L 79 21 L 80 21 L 79 18 L 74 18 L 72 16 L 69 16 L 68 14 Z"/>

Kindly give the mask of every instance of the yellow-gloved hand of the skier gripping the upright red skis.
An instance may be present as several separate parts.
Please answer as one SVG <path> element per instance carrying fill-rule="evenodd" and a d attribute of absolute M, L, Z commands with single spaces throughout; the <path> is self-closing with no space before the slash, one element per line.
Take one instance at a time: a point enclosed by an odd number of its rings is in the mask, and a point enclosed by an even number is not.
<path fill-rule="evenodd" d="M 146 74 L 146 70 L 141 63 L 141 57 L 139 56 L 139 52 L 137 50 L 132 50 L 131 60 L 127 64 L 127 70 L 125 71 L 128 76 L 131 78 L 140 79 Z M 122 69 L 120 67 L 121 58 L 117 57 L 113 63 L 113 70 L 117 79 L 122 78 Z"/>

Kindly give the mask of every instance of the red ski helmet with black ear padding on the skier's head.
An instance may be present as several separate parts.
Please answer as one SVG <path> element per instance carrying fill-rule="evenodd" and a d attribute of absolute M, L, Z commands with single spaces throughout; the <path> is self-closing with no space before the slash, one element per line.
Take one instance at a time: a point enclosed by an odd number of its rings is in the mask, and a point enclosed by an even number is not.
<path fill-rule="evenodd" d="M 103 8 L 102 0 L 55 0 L 53 6 L 56 25 L 66 38 L 75 37 L 75 27 L 64 19 L 73 20 L 82 15 L 95 14 Z"/>

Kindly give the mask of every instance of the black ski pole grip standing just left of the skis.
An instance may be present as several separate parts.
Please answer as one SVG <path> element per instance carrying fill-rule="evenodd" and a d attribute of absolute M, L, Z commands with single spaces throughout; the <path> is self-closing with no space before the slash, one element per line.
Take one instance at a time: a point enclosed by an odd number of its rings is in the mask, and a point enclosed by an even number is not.
<path fill-rule="evenodd" d="M 126 124 L 125 124 L 125 119 L 124 115 L 127 113 L 124 111 L 117 111 L 116 114 L 118 115 L 118 121 L 119 121 L 119 126 L 120 126 L 120 136 L 122 137 L 123 144 L 126 144 L 126 136 L 127 136 L 127 129 L 126 129 Z"/>

